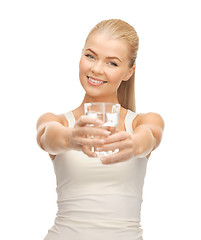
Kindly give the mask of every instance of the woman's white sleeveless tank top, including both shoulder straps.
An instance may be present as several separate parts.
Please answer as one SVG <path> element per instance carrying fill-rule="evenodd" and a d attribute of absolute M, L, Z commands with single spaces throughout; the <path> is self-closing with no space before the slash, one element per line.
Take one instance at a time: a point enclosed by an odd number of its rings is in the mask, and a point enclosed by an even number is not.
<path fill-rule="evenodd" d="M 136 113 L 128 110 L 126 131 Z M 75 124 L 70 111 L 69 127 Z M 147 158 L 104 165 L 98 157 L 69 150 L 52 161 L 58 212 L 44 240 L 142 240 L 140 211 Z"/>

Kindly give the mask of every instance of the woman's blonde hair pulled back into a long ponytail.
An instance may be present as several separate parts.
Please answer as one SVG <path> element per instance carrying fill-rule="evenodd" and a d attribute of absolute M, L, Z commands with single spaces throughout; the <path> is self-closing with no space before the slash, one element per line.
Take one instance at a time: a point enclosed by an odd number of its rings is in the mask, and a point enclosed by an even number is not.
<path fill-rule="evenodd" d="M 92 30 L 89 32 L 86 42 L 89 37 L 95 32 L 107 32 L 110 37 L 115 39 L 125 40 L 129 47 L 130 59 L 129 67 L 136 62 L 137 51 L 139 47 L 139 38 L 135 29 L 129 25 L 127 22 L 121 19 L 109 19 L 99 22 Z M 117 99 L 120 105 L 126 109 L 136 112 L 135 104 L 135 72 L 130 77 L 128 81 L 122 81 L 117 90 Z"/>

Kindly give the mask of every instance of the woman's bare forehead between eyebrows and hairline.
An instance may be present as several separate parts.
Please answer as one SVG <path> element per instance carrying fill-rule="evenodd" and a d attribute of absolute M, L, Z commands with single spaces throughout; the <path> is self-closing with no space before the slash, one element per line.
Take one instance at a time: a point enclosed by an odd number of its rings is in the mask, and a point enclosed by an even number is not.
<path fill-rule="evenodd" d="M 128 59 L 128 45 L 125 40 L 114 39 L 105 33 L 92 34 L 85 44 L 85 49 L 88 48 L 101 56 L 116 56 L 121 60 Z"/>

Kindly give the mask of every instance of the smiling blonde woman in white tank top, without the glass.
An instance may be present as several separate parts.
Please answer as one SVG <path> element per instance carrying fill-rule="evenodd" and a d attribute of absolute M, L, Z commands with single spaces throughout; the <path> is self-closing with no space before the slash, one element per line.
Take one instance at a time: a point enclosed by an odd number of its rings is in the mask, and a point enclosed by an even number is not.
<path fill-rule="evenodd" d="M 161 142 L 164 121 L 157 113 L 136 113 L 137 50 L 138 36 L 128 23 L 98 23 L 80 59 L 86 92 L 81 105 L 62 115 L 46 113 L 37 122 L 37 142 L 49 153 L 57 178 L 58 213 L 45 240 L 142 240 L 146 164 Z M 118 132 L 110 135 L 98 119 L 85 116 L 87 102 L 119 103 Z M 98 158 L 90 151 L 95 145 L 119 152 Z"/>

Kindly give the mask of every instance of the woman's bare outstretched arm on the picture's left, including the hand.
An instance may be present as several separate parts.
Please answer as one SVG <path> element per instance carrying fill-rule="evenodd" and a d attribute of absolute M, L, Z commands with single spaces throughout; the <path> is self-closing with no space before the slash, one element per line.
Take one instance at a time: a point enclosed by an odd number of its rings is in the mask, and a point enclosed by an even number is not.
<path fill-rule="evenodd" d="M 93 124 L 94 127 L 87 126 Z M 68 122 L 63 115 L 52 113 L 43 114 L 37 122 L 38 145 L 51 155 L 57 155 L 70 149 L 83 151 L 94 157 L 90 146 L 104 144 L 104 139 L 110 132 L 96 127 L 102 124 L 100 120 L 81 116 L 73 128 L 68 127 Z M 86 135 L 101 136 L 101 138 L 86 138 Z"/>

